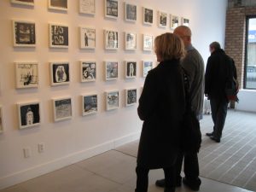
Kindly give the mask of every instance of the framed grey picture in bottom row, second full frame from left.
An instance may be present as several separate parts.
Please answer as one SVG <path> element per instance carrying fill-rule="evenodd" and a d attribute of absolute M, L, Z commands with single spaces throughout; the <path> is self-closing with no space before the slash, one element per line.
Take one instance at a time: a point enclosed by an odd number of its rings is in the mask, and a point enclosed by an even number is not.
<path fill-rule="evenodd" d="M 70 97 L 53 99 L 54 120 L 72 118 L 72 99 Z"/>

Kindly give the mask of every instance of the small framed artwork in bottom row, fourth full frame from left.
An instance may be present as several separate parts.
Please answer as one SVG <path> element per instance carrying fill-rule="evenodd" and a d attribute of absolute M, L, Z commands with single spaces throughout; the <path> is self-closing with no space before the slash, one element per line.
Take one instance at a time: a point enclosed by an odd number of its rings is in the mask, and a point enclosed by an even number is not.
<path fill-rule="evenodd" d="M 106 92 L 106 110 L 113 110 L 119 108 L 119 91 L 107 91 Z"/>

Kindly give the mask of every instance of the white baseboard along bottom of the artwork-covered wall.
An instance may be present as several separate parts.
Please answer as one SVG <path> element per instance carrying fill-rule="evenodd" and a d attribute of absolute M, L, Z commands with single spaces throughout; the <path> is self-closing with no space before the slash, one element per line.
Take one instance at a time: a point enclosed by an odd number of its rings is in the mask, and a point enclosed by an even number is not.
<path fill-rule="evenodd" d="M 65 157 L 61 157 L 59 159 L 49 161 L 38 166 L 33 166 L 29 169 L 26 169 L 20 172 L 15 172 L 9 176 L 1 177 L 0 189 L 8 188 L 15 184 L 25 182 L 34 177 L 38 177 L 46 173 L 61 169 L 64 166 L 69 166 L 81 160 L 88 159 L 97 154 L 102 154 L 108 150 L 117 148 L 120 145 L 123 145 L 125 143 L 130 143 L 132 141 L 135 141 L 137 140 L 137 138 L 139 138 L 139 136 L 140 136 L 139 132 L 132 133 L 128 136 L 120 137 L 120 138 L 114 139 L 113 141 L 102 143 L 92 148 L 86 148 L 82 151 L 79 151 L 73 154 L 68 154 Z"/>

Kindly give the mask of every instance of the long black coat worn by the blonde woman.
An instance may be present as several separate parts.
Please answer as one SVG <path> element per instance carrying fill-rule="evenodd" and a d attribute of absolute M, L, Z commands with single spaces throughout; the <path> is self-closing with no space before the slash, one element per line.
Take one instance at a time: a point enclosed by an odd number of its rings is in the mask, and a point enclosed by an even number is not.
<path fill-rule="evenodd" d="M 148 72 L 137 113 L 142 119 L 137 165 L 170 167 L 180 145 L 180 123 L 185 110 L 183 71 L 179 61 L 162 61 Z"/>

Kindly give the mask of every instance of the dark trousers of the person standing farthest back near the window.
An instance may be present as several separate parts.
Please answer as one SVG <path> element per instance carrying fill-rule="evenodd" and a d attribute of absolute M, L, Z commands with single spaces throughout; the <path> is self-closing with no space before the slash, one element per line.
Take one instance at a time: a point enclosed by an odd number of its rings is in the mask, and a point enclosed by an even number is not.
<path fill-rule="evenodd" d="M 223 99 L 210 99 L 213 121 L 213 136 L 220 139 L 227 116 L 228 102 Z"/>

